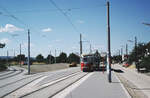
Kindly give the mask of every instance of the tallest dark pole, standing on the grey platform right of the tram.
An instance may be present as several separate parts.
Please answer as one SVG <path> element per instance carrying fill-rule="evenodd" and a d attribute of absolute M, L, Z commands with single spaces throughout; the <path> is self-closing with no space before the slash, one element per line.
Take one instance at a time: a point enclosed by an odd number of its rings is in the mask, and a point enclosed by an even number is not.
<path fill-rule="evenodd" d="M 109 1 L 107 1 L 107 29 L 108 29 L 108 51 L 107 51 L 107 73 L 108 81 L 111 83 L 111 49 L 110 49 L 110 19 L 109 19 Z"/>

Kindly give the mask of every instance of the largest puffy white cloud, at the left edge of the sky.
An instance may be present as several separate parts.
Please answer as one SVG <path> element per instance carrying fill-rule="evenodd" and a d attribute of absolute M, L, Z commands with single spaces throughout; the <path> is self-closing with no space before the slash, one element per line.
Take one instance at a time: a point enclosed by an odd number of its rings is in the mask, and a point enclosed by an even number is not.
<path fill-rule="evenodd" d="M 8 32 L 8 33 L 13 33 L 16 31 L 23 31 L 22 28 L 18 28 L 12 24 L 6 24 L 5 27 L 0 27 L 0 32 Z"/>

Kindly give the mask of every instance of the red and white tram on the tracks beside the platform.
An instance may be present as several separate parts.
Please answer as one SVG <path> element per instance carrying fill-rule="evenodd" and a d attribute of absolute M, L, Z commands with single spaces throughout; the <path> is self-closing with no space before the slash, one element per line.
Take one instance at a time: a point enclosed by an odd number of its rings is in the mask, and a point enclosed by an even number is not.
<path fill-rule="evenodd" d="M 100 67 L 100 58 L 99 57 L 95 56 L 94 54 L 82 55 L 81 70 L 83 72 L 99 70 L 99 67 Z"/>

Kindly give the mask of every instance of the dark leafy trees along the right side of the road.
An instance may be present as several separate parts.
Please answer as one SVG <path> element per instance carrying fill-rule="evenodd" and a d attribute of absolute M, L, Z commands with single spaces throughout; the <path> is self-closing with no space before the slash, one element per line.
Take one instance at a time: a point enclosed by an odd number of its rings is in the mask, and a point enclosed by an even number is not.
<path fill-rule="evenodd" d="M 116 63 L 122 63 L 122 56 L 115 55 L 112 57 L 112 60 Z M 138 71 L 140 71 L 141 68 L 150 71 L 150 42 L 138 43 L 137 46 L 134 46 L 129 55 L 127 55 L 127 59 L 124 61 L 130 65 L 135 63 Z"/>

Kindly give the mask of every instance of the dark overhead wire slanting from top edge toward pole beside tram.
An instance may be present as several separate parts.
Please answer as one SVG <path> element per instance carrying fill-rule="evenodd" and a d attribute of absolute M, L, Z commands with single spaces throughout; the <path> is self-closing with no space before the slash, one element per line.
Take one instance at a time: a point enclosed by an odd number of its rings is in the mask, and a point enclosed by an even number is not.
<path fill-rule="evenodd" d="M 79 32 L 78 29 L 76 28 L 76 26 L 73 24 L 73 22 L 71 21 L 71 19 L 69 18 L 69 16 L 63 12 L 63 10 L 57 6 L 57 4 L 53 1 L 53 0 L 49 0 L 57 9 L 58 11 L 60 11 L 65 17 L 66 19 L 68 20 L 68 22 L 71 24 L 71 26 L 73 27 L 73 29 L 76 31 L 76 32 Z"/>

